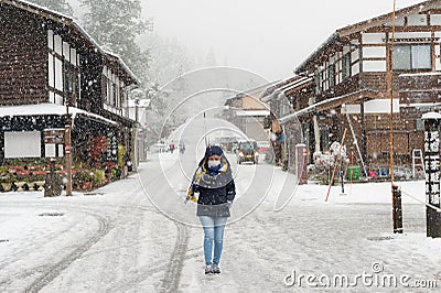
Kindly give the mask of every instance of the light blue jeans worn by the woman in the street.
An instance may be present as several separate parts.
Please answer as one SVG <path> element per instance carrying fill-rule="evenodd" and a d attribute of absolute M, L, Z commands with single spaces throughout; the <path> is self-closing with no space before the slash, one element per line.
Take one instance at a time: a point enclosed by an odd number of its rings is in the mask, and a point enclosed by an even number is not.
<path fill-rule="evenodd" d="M 212 264 L 213 257 L 213 242 L 214 242 L 214 257 L 213 263 L 219 264 L 223 241 L 224 241 L 224 228 L 227 224 L 227 217 L 208 217 L 200 216 L 201 224 L 204 228 L 204 256 L 205 264 Z"/>

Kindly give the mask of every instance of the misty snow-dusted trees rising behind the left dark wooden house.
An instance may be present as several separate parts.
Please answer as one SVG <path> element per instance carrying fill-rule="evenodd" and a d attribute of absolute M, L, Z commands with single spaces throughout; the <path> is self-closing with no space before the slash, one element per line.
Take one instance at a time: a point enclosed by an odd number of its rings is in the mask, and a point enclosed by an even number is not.
<path fill-rule="evenodd" d="M 185 82 L 176 80 L 195 68 L 217 65 L 213 48 L 205 56 L 192 56 L 175 39 L 154 33 L 154 22 L 146 17 L 149 11 L 141 9 L 140 0 L 28 1 L 75 19 L 104 50 L 121 57 L 140 80 L 129 98 L 151 100 L 143 110 L 150 143 L 166 137 L 189 117 L 189 111 L 169 116 L 175 101 L 189 93 Z M 179 86 L 164 90 L 170 84 Z"/>

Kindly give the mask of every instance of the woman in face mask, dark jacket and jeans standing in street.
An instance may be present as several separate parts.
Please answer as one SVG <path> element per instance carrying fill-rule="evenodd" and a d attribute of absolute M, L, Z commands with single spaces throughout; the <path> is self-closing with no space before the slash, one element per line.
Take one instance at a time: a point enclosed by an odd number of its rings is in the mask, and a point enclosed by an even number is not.
<path fill-rule="evenodd" d="M 194 193 L 198 193 L 196 198 Z M 204 228 L 205 274 L 220 273 L 224 228 L 236 187 L 228 160 L 219 146 L 205 150 L 193 176 L 186 200 L 197 202 L 197 213 Z"/>

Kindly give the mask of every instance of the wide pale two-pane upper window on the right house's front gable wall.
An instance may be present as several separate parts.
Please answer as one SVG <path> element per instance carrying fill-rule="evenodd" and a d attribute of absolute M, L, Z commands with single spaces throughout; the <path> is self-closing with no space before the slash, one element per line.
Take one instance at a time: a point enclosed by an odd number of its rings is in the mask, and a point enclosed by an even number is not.
<path fill-rule="evenodd" d="M 432 48 L 430 44 L 394 46 L 392 69 L 412 70 L 432 68 Z"/>

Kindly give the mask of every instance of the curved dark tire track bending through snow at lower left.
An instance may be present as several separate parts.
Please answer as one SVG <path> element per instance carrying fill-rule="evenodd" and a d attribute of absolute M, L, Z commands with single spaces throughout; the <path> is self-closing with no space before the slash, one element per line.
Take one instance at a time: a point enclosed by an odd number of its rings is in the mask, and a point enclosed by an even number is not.
<path fill-rule="evenodd" d="M 98 231 L 89 240 L 87 240 L 82 246 L 77 247 L 73 252 L 64 257 L 61 261 L 46 269 L 45 272 L 43 272 L 43 274 L 40 278 L 37 278 L 32 284 L 30 284 L 25 289 L 25 292 L 39 292 L 42 287 L 49 284 L 52 280 L 54 280 L 63 270 L 65 270 L 68 265 L 71 265 L 71 263 L 73 263 L 84 252 L 86 252 L 93 245 L 98 242 L 99 239 L 101 239 L 105 235 L 107 235 L 110 231 L 109 221 L 105 217 L 86 210 L 82 211 L 96 218 L 96 220 L 99 224 Z"/>

